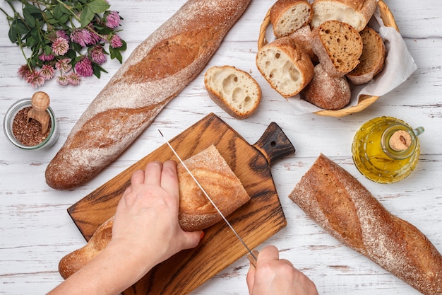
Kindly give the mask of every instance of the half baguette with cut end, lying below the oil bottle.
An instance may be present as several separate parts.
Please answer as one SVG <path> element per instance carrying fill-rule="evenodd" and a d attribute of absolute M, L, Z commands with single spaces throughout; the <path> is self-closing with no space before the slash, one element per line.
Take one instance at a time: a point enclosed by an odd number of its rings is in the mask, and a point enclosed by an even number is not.
<path fill-rule="evenodd" d="M 434 245 L 327 157 L 318 157 L 289 198 L 338 241 L 422 294 L 442 294 L 442 256 Z"/>

